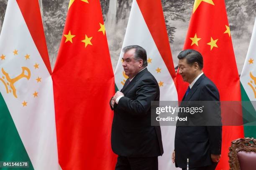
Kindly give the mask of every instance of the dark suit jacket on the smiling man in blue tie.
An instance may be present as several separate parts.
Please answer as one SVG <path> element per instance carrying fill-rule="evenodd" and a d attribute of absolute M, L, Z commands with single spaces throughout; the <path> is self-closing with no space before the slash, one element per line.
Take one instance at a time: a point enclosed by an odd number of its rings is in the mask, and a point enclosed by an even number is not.
<path fill-rule="evenodd" d="M 183 97 L 182 102 L 219 100 L 217 87 L 203 74 L 187 96 Z M 210 107 L 211 116 L 221 125 L 220 105 L 210 105 Z M 179 122 L 177 122 L 174 142 L 176 167 L 187 168 L 187 158 L 189 158 L 189 168 L 211 165 L 210 154 L 221 153 L 222 126 L 178 126 L 178 124 Z"/>

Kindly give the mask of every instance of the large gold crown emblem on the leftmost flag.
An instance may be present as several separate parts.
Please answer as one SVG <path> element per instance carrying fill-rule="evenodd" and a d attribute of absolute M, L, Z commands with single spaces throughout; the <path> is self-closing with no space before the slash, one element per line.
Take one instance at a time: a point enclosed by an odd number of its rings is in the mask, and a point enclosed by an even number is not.
<path fill-rule="evenodd" d="M 29 80 L 30 76 L 31 76 L 31 72 L 28 69 L 28 67 L 21 67 L 21 69 L 22 69 L 22 72 L 20 73 L 20 75 L 14 77 L 14 78 L 10 78 L 9 74 L 7 72 L 5 72 L 5 70 L 2 68 L 3 75 L 5 75 L 5 76 L 1 77 L 0 80 L 5 85 L 6 92 L 7 93 L 13 92 L 13 96 L 15 98 L 17 98 L 17 94 L 16 94 L 16 88 L 14 86 L 14 83 L 23 77 L 25 77 L 25 78 L 27 78 L 27 80 Z M 25 71 L 27 72 L 27 74 L 25 74 Z M 6 82 L 5 82 L 5 80 L 6 80 Z M 10 88 L 8 88 L 8 86 L 10 86 Z"/>

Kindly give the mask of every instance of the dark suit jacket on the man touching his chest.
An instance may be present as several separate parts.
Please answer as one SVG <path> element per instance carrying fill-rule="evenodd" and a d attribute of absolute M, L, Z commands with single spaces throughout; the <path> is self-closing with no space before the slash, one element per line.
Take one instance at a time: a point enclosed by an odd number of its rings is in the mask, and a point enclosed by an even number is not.
<path fill-rule="evenodd" d="M 147 69 L 139 72 L 115 103 L 111 132 L 114 153 L 127 157 L 154 157 L 164 153 L 160 126 L 151 126 L 151 101 L 159 101 L 159 85 Z"/>

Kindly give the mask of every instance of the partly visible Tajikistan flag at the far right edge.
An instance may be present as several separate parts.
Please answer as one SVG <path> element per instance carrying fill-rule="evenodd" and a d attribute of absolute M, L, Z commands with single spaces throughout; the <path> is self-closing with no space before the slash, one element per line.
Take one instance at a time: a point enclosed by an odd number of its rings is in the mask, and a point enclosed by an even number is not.
<path fill-rule="evenodd" d="M 244 136 L 256 138 L 256 20 L 240 77 Z M 254 126 L 253 126 L 254 125 Z"/>

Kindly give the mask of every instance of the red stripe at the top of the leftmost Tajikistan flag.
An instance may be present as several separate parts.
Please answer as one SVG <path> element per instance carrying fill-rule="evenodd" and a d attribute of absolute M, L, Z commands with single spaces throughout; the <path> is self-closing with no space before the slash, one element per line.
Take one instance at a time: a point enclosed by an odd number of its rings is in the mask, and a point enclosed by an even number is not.
<path fill-rule="evenodd" d="M 38 0 L 30 0 L 29 2 L 24 0 L 16 1 L 20 7 L 20 11 L 27 24 L 28 30 L 37 47 L 37 50 L 40 53 L 42 59 L 44 60 L 44 64 L 46 65 L 49 73 L 51 74 L 51 65 L 44 36 L 44 28 L 40 13 L 39 2 Z"/>

